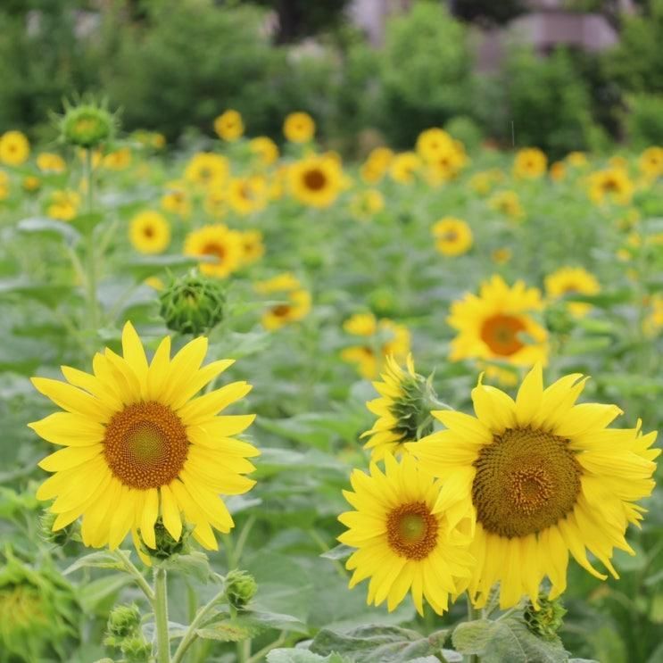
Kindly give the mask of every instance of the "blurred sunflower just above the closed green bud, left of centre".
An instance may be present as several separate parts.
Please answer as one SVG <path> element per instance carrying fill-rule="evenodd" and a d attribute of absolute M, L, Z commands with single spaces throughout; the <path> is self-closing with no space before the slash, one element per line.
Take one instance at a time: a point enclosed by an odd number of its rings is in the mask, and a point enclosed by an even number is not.
<path fill-rule="evenodd" d="M 216 260 L 202 262 L 200 270 L 210 277 L 226 278 L 242 263 L 242 236 L 222 223 L 203 226 L 186 236 L 185 255 L 207 255 Z"/>

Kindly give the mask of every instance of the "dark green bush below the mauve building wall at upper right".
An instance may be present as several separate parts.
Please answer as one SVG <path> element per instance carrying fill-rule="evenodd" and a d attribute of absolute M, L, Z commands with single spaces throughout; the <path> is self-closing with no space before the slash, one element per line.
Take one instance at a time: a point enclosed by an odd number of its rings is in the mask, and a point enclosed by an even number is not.
<path fill-rule="evenodd" d="M 583 79 L 567 51 L 540 58 L 530 49 L 511 50 L 497 78 L 484 83 L 476 107 L 488 133 L 510 145 L 536 145 L 558 158 L 605 139 L 592 117 Z M 501 96 L 501 99 L 499 98 Z M 496 114 L 503 108 L 504 114 Z"/>

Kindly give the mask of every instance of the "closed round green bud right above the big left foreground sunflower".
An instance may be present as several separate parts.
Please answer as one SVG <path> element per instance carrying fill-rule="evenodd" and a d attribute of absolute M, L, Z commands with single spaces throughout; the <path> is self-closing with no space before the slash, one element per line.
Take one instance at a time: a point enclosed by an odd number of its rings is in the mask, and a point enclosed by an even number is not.
<path fill-rule="evenodd" d="M 159 295 L 166 327 L 180 334 L 208 333 L 224 318 L 226 293 L 219 281 L 195 273 L 176 278 Z"/>

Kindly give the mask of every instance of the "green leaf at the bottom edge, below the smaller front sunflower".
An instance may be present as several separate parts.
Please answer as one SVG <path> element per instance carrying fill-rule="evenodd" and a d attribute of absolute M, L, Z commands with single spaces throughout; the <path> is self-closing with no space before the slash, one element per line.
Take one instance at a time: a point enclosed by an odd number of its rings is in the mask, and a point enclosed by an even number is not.
<path fill-rule="evenodd" d="M 425 638 L 399 626 L 359 626 L 347 633 L 323 628 L 311 642 L 311 651 L 323 655 L 336 651 L 356 663 L 407 663 L 435 655 L 448 634 L 442 630 Z"/>

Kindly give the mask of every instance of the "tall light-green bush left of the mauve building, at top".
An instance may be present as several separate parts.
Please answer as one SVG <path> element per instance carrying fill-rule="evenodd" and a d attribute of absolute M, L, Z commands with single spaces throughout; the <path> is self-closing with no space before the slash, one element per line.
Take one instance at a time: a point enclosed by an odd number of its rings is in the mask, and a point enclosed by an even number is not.
<path fill-rule="evenodd" d="M 410 146 L 422 129 L 467 112 L 471 69 L 466 29 L 442 4 L 420 1 L 389 21 L 374 112 L 388 142 Z"/>

